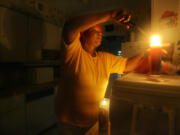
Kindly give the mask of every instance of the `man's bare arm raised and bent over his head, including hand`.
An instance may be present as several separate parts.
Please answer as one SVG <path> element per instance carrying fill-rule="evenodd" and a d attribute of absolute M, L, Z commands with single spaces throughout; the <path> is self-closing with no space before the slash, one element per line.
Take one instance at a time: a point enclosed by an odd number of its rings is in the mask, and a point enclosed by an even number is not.
<path fill-rule="evenodd" d="M 66 44 L 70 44 L 79 32 L 85 31 L 96 24 L 106 21 L 126 24 L 129 20 L 130 15 L 124 9 L 77 16 L 66 21 L 63 28 L 63 39 Z"/>

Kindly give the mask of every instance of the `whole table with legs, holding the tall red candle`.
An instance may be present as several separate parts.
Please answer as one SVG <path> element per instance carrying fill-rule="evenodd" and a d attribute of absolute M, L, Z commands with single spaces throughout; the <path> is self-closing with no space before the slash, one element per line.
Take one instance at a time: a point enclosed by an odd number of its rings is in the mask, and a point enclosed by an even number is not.
<path fill-rule="evenodd" d="M 111 121 L 112 131 L 124 135 L 178 135 L 180 76 L 129 73 L 117 79 Z"/>

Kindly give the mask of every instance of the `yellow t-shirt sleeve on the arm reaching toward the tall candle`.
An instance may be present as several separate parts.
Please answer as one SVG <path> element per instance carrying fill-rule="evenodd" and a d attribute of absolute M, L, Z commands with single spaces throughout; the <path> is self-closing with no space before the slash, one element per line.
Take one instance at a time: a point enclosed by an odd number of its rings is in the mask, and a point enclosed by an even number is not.
<path fill-rule="evenodd" d="M 108 54 L 107 59 L 108 63 L 110 63 L 110 73 L 123 74 L 126 67 L 127 58 Z"/>

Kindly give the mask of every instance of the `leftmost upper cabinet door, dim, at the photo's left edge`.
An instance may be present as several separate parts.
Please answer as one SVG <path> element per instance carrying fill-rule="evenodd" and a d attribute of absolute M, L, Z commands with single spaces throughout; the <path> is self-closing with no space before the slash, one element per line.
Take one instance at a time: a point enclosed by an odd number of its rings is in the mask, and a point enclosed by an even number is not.
<path fill-rule="evenodd" d="M 0 61 L 26 60 L 27 16 L 0 7 Z"/>

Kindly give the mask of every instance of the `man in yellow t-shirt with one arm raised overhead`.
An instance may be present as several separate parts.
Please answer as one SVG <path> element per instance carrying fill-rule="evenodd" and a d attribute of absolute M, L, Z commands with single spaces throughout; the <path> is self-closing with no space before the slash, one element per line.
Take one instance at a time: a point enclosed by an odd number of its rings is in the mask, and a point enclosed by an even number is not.
<path fill-rule="evenodd" d="M 133 71 L 143 58 L 144 54 L 127 59 L 96 52 L 102 40 L 98 24 L 113 21 L 129 28 L 130 18 L 126 10 L 118 9 L 66 21 L 55 101 L 61 135 L 85 135 L 98 119 L 99 101 L 104 98 L 110 74 Z"/>

